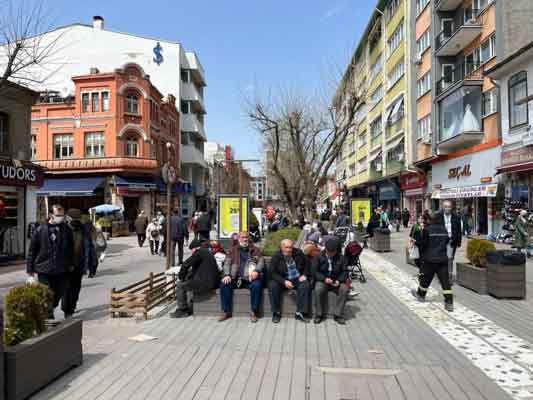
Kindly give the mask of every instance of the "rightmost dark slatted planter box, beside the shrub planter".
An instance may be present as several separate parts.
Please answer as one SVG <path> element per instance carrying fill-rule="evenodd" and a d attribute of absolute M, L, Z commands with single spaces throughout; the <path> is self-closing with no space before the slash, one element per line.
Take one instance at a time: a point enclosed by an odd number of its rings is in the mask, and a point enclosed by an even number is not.
<path fill-rule="evenodd" d="M 488 293 L 498 298 L 524 299 L 526 297 L 526 265 L 489 263 Z"/>

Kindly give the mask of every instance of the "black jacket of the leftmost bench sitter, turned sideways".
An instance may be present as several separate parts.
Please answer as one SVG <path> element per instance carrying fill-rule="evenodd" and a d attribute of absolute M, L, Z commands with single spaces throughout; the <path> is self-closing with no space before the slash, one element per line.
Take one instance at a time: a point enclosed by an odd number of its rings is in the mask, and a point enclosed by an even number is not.
<path fill-rule="evenodd" d="M 220 283 L 217 260 L 207 247 L 201 247 L 187 258 L 178 273 L 180 280 L 188 280 L 197 293 L 216 289 Z"/>

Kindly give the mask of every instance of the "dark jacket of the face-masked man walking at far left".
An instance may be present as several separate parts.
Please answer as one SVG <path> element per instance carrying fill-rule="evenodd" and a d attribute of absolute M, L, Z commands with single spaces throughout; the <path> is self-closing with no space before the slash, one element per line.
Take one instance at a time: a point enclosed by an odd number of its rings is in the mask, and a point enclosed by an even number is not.
<path fill-rule="evenodd" d="M 52 254 L 52 243 L 49 235 L 49 224 L 40 225 L 30 241 L 26 271 L 29 274 L 58 275 L 70 272 L 74 265 L 74 237 L 72 230 L 65 223 L 59 224 L 57 252 Z"/>

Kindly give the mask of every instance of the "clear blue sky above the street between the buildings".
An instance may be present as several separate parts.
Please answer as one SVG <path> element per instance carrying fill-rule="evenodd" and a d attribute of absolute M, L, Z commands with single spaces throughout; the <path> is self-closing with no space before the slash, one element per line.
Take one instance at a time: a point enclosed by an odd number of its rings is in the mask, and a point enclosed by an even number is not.
<path fill-rule="evenodd" d="M 75 3 L 75 6 L 74 6 Z M 256 157 L 243 97 L 260 89 L 313 91 L 343 68 L 374 0 L 46 0 L 57 24 L 90 23 L 175 40 L 195 50 L 206 70 L 206 132 Z M 329 75 L 329 76 L 328 76 Z"/>

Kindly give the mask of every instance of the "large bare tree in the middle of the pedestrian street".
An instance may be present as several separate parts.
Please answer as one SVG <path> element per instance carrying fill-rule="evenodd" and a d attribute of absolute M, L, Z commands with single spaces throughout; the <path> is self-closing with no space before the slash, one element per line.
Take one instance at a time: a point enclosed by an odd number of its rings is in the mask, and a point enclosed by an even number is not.
<path fill-rule="evenodd" d="M 361 91 L 351 76 L 344 76 L 330 105 L 285 92 L 247 102 L 248 118 L 263 142 L 269 179 L 293 216 L 302 203 L 311 207 L 347 136 L 355 131 Z"/>

